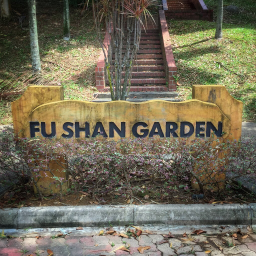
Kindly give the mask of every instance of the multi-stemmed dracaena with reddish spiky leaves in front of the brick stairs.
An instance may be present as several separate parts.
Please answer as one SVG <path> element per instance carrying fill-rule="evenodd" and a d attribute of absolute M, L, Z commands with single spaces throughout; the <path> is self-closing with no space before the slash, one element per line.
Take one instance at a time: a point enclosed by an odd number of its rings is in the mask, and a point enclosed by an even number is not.
<path fill-rule="evenodd" d="M 155 5 L 155 1 L 92 0 L 97 37 L 104 53 L 112 100 L 127 98 L 141 29 L 147 25 L 148 19 L 154 22 L 148 7 Z M 106 27 L 107 45 L 103 42 L 102 26 Z"/>

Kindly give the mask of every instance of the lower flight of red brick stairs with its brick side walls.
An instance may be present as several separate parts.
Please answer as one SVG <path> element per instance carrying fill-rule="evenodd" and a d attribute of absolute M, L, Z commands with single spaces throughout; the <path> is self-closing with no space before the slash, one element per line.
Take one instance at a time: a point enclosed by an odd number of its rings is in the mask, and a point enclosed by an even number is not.
<path fill-rule="evenodd" d="M 104 43 L 107 45 L 106 39 Z M 123 50 L 125 47 L 126 45 L 123 45 Z M 112 57 L 114 62 L 114 55 Z M 102 54 L 95 75 L 96 88 L 99 91 L 109 92 L 109 81 Z M 154 16 L 154 21 L 147 21 L 141 30 L 139 49 L 131 73 L 130 91 L 174 91 L 176 83 L 173 75 L 176 75 L 176 66 L 162 10 L 159 16 Z M 122 79 L 123 77 L 124 72 Z"/>

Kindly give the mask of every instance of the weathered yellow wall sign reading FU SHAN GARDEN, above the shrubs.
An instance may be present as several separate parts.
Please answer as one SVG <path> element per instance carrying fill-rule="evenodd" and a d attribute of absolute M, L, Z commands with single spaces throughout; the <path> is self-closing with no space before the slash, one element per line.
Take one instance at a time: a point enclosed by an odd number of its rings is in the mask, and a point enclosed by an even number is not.
<path fill-rule="evenodd" d="M 199 100 L 205 92 L 206 99 Z M 33 85 L 12 102 L 13 126 L 22 137 L 81 139 L 99 134 L 117 140 L 121 137 L 209 137 L 214 133 L 217 137 L 239 138 L 242 105 L 224 86 L 193 85 L 193 97 L 181 102 L 95 103 L 63 100 L 62 86 Z M 230 105 L 225 107 L 221 101 Z M 235 111 L 235 121 L 238 120 L 235 125 L 232 111 Z"/>

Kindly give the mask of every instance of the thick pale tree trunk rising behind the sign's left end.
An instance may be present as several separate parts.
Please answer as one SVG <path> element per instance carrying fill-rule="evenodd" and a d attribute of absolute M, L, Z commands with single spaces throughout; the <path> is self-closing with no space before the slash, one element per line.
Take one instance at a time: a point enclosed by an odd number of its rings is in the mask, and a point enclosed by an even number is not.
<path fill-rule="evenodd" d="M 35 71 L 39 71 L 41 70 L 41 62 L 37 38 L 35 0 L 28 0 L 28 13 L 32 69 L 34 69 Z"/>

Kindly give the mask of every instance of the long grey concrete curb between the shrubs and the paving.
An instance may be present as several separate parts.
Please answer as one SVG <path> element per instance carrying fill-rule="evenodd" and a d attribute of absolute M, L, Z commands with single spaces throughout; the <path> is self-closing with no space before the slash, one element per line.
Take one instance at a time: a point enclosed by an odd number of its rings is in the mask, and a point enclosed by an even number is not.
<path fill-rule="evenodd" d="M 255 225 L 256 203 L 45 206 L 0 210 L 0 228 L 110 224 Z"/>

